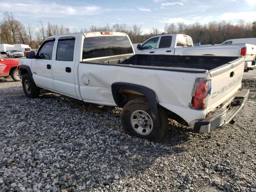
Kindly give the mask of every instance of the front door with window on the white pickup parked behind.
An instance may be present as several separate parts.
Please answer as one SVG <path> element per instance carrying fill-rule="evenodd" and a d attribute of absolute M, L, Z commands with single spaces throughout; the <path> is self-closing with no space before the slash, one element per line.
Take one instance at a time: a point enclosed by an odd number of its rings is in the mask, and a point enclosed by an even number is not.
<path fill-rule="evenodd" d="M 156 46 L 158 45 L 159 39 L 160 36 L 150 38 L 142 44 L 140 50 L 136 50 L 136 54 L 156 54 Z"/>

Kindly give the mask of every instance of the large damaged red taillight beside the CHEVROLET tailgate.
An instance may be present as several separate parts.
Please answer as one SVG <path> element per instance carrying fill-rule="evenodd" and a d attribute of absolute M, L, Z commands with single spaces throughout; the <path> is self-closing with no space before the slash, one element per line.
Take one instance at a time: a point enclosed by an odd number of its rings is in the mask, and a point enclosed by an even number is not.
<path fill-rule="evenodd" d="M 196 81 L 196 92 L 193 100 L 193 107 L 197 109 L 206 108 L 209 98 L 210 82 L 209 80 Z"/>

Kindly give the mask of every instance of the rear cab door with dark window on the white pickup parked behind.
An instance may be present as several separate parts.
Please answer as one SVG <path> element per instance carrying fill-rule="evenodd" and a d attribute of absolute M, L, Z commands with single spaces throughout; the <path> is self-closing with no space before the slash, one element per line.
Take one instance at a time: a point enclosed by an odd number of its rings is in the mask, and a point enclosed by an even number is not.
<path fill-rule="evenodd" d="M 158 55 L 173 55 L 174 40 L 171 35 L 161 36 L 159 44 L 156 48 L 156 54 Z"/>

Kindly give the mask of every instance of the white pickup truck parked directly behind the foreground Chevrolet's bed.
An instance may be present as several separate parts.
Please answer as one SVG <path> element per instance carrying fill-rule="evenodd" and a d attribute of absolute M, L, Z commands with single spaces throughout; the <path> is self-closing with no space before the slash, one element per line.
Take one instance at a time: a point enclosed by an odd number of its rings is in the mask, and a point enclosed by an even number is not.
<path fill-rule="evenodd" d="M 244 56 L 244 66 L 249 70 L 255 66 L 255 50 L 255 45 L 245 43 L 194 47 L 190 36 L 168 34 L 149 38 L 138 44 L 135 52 L 136 54 Z"/>

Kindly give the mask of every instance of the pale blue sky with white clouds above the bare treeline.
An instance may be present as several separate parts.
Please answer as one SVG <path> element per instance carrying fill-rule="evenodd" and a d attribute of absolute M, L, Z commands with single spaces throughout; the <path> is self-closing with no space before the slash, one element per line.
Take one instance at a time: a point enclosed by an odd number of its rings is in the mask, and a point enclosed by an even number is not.
<path fill-rule="evenodd" d="M 170 22 L 256 21 L 256 0 L 0 0 L 0 20 L 6 11 L 36 28 L 39 20 L 70 29 L 126 23 L 147 33 Z"/>

